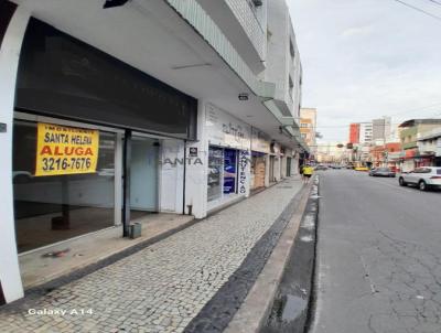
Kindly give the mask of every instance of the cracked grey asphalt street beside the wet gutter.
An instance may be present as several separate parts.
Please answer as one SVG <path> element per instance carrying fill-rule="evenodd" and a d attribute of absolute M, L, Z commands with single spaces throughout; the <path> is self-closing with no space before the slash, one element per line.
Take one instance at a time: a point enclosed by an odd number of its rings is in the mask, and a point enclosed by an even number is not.
<path fill-rule="evenodd" d="M 310 333 L 441 332 L 441 192 L 320 172 Z"/>

